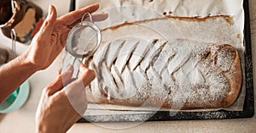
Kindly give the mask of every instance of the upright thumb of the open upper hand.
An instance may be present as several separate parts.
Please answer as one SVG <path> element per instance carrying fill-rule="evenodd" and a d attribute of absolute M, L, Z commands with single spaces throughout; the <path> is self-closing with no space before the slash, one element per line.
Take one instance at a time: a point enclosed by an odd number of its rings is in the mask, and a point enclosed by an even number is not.
<path fill-rule="evenodd" d="M 44 24 L 42 25 L 39 32 L 41 32 L 44 35 L 51 35 L 51 33 L 54 30 L 55 27 L 55 21 L 57 17 L 57 12 L 54 6 L 49 5 L 49 13 L 47 18 L 44 20 Z"/>

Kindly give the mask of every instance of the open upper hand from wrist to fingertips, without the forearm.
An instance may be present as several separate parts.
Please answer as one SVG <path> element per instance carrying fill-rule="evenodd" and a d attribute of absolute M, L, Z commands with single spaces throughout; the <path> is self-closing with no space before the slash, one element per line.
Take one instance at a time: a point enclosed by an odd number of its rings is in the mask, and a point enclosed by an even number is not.
<path fill-rule="evenodd" d="M 54 6 L 49 6 L 49 14 L 38 34 L 33 37 L 31 47 L 23 55 L 26 61 L 37 69 L 46 69 L 66 46 L 67 35 L 74 25 L 77 25 L 84 13 L 90 14 L 99 8 L 98 4 L 73 11 L 56 19 Z M 108 14 L 93 15 L 94 21 L 108 18 Z"/>

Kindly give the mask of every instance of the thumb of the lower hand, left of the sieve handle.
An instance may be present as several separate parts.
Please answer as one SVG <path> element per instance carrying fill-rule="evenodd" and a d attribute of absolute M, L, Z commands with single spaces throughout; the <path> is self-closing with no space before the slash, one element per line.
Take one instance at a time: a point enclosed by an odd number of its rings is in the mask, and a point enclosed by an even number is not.
<path fill-rule="evenodd" d="M 48 95 L 51 96 L 55 94 L 55 92 L 60 91 L 68 82 L 70 82 L 71 77 L 73 75 L 73 66 L 69 65 L 67 72 L 58 76 L 58 78 L 47 87 Z"/>

